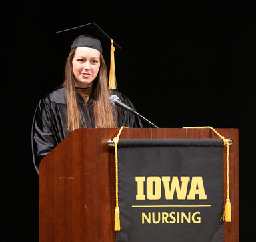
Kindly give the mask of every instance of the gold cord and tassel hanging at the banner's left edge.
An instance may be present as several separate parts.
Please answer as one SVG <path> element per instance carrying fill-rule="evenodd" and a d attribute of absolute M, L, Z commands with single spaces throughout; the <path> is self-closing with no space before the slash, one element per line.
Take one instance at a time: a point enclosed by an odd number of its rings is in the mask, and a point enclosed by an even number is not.
<path fill-rule="evenodd" d="M 119 130 L 119 133 L 117 137 L 115 137 L 113 140 L 115 142 L 115 231 L 120 230 L 120 211 L 119 211 L 119 204 L 118 204 L 118 159 L 117 159 L 117 145 L 119 141 L 119 136 L 121 135 L 121 132 L 123 128 L 128 128 L 125 126 L 122 126 Z"/>

